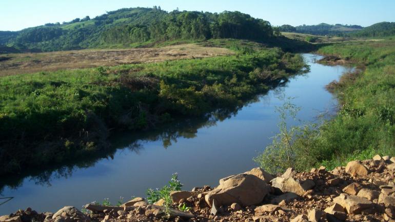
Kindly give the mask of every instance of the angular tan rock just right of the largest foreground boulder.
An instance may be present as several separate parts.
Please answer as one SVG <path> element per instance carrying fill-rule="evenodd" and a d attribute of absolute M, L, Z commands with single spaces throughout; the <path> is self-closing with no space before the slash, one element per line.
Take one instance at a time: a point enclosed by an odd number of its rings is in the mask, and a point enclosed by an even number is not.
<path fill-rule="evenodd" d="M 298 195 L 303 195 L 306 191 L 312 189 L 315 186 L 314 181 L 307 179 L 300 181 L 293 177 L 276 177 L 272 181 L 272 187 L 278 188 L 281 191 L 292 192 Z"/>

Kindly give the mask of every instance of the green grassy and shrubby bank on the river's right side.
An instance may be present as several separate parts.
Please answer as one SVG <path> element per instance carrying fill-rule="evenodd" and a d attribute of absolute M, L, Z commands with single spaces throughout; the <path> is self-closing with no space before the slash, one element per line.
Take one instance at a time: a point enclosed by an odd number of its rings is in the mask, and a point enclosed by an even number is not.
<path fill-rule="evenodd" d="M 339 43 L 319 52 L 364 67 L 328 85 L 341 104 L 333 119 L 320 126 L 280 124 L 282 134 L 255 159 L 273 172 L 290 166 L 333 168 L 376 154 L 395 155 L 395 41 Z M 281 111 L 289 115 L 295 107 L 286 103 Z"/>

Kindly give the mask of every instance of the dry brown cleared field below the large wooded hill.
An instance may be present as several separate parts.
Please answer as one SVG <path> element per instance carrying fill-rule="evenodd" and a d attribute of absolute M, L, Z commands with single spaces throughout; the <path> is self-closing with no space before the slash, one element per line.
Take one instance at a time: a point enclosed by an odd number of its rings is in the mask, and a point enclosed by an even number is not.
<path fill-rule="evenodd" d="M 234 52 L 219 47 L 195 44 L 138 49 L 87 49 L 42 53 L 0 54 L 0 76 L 38 71 L 149 63 L 229 55 Z"/>

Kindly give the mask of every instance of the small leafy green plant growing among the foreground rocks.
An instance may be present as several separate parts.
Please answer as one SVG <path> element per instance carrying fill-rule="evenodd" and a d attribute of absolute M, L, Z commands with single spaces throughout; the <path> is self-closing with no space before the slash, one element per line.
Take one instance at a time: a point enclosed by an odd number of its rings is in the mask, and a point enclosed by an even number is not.
<path fill-rule="evenodd" d="M 149 204 L 153 204 L 154 202 L 163 199 L 164 205 L 164 213 L 167 216 L 170 216 L 170 207 L 173 203 L 170 192 L 172 191 L 179 191 L 181 190 L 183 184 L 181 184 L 180 180 L 178 179 L 178 174 L 174 173 L 169 180 L 169 185 L 164 186 L 162 189 L 148 189 L 147 190 L 147 201 Z"/>

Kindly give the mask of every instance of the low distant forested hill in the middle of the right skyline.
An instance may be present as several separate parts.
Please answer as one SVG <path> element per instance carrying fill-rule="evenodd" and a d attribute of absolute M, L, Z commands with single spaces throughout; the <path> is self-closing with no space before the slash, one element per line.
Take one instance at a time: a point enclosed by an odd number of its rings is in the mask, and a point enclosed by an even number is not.
<path fill-rule="evenodd" d="M 343 35 L 344 33 L 361 30 L 363 27 L 359 25 L 329 25 L 321 23 L 318 25 L 301 25 L 295 27 L 291 25 L 282 25 L 279 28 L 280 31 L 283 32 L 297 32 L 314 35 Z"/>

